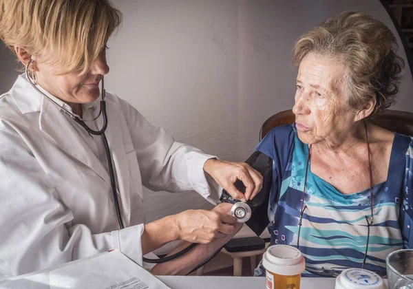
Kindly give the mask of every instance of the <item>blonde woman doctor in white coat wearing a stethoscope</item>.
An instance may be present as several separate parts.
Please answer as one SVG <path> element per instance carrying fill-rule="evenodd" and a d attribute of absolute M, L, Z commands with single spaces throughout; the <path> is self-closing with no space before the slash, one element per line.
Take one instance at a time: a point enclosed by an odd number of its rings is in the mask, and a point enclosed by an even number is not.
<path fill-rule="evenodd" d="M 142 255 L 172 240 L 208 244 L 235 232 L 222 208 L 144 224 L 142 185 L 195 190 L 216 203 L 218 185 L 241 198 L 233 186 L 240 179 L 251 198 L 262 177 L 176 142 L 106 92 L 112 194 L 103 138 L 70 117 L 103 127 L 105 43 L 121 22 L 109 1 L 0 0 L 0 15 L 0 38 L 29 69 L 0 96 L 0 279 L 112 249 L 142 264 Z"/>

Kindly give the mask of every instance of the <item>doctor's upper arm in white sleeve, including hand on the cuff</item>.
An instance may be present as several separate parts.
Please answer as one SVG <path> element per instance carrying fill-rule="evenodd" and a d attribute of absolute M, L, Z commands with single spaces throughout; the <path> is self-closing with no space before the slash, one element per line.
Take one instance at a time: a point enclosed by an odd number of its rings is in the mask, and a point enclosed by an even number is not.
<path fill-rule="evenodd" d="M 142 183 L 147 188 L 171 192 L 195 190 L 213 204 L 218 203 L 219 186 L 236 199 L 244 198 L 233 185 L 237 179 L 246 185 L 247 200 L 260 191 L 262 177 L 248 165 L 216 160 L 215 156 L 176 142 L 164 129 L 149 125 L 125 100 L 119 101 L 127 118 Z"/>

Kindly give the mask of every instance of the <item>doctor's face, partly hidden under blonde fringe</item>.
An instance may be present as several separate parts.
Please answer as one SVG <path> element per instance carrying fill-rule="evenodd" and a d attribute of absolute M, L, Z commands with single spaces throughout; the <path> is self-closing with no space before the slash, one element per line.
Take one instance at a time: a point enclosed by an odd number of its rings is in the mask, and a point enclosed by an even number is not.
<path fill-rule="evenodd" d="M 41 62 L 36 63 L 36 66 L 39 69 L 39 72 L 36 72 L 39 85 L 65 103 L 92 103 L 99 97 L 99 82 L 109 72 L 105 49 L 94 60 L 85 75 L 74 72 L 59 75 L 59 72 L 63 71 L 62 67 Z"/>

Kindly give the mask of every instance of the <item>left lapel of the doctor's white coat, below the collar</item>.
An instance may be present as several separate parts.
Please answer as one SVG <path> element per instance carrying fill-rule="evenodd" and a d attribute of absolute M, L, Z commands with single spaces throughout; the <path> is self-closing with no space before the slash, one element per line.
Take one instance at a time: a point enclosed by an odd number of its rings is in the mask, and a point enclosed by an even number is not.
<path fill-rule="evenodd" d="M 77 124 L 76 124 L 77 125 Z M 95 171 L 110 186 L 110 177 L 87 143 L 58 107 L 43 97 L 39 118 L 41 131 L 52 138 L 63 151 Z"/>

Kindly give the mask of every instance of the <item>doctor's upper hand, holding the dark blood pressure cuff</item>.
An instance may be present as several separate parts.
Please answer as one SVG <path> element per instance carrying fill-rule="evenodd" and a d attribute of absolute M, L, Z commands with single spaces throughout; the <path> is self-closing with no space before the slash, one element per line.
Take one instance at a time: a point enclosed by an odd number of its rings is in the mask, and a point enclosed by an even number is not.
<path fill-rule="evenodd" d="M 262 189 L 262 175 L 245 162 L 226 162 L 224 160 L 209 159 L 204 164 L 204 171 L 234 199 L 246 202 Z M 235 188 L 236 180 L 241 180 L 245 186 L 245 194 Z"/>

